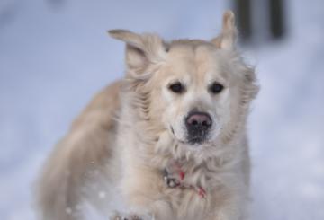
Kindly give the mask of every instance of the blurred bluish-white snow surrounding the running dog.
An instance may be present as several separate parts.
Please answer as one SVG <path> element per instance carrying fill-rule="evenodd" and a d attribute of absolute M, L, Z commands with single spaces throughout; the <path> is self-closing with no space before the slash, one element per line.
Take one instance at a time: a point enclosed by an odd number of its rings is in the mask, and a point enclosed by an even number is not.
<path fill-rule="evenodd" d="M 219 31 L 225 3 L 2 0 L 0 218 L 35 219 L 31 189 L 41 163 L 94 92 L 121 77 L 123 45 L 105 30 L 209 39 Z M 321 220 L 324 2 L 286 3 L 287 38 L 246 53 L 262 87 L 249 124 L 253 216 Z"/>

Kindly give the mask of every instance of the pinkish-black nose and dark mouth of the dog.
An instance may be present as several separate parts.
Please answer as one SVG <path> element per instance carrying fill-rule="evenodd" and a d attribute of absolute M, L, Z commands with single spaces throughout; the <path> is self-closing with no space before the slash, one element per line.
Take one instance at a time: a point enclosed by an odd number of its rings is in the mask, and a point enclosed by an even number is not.
<path fill-rule="evenodd" d="M 208 113 L 197 111 L 189 113 L 185 119 L 189 142 L 201 143 L 206 138 L 211 125 L 211 116 Z"/>

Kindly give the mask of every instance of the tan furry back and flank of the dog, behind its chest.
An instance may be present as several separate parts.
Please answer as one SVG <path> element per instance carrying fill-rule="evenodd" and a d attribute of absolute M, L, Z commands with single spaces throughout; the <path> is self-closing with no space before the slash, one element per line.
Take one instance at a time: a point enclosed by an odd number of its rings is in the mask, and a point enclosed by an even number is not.
<path fill-rule="evenodd" d="M 76 209 L 81 188 L 91 179 L 88 173 L 100 171 L 112 154 L 120 87 L 117 82 L 98 93 L 50 154 L 38 182 L 41 219 L 81 218 Z"/>

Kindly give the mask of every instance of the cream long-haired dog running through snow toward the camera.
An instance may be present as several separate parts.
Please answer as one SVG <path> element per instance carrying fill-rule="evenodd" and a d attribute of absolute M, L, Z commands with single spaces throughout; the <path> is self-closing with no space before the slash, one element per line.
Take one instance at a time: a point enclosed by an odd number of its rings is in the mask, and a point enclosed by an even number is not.
<path fill-rule="evenodd" d="M 109 33 L 126 43 L 126 74 L 50 154 L 37 185 L 40 219 L 83 219 L 85 201 L 105 206 L 94 193 L 101 187 L 99 198 L 121 204 L 110 219 L 247 219 L 246 127 L 258 85 L 236 48 L 234 13 L 212 40 Z"/>

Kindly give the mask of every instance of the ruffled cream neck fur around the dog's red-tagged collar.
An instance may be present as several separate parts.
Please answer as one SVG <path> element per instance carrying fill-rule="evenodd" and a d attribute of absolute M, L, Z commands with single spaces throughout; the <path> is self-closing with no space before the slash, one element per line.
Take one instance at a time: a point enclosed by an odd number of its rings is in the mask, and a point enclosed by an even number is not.
<path fill-rule="evenodd" d="M 138 150 L 146 155 L 141 163 L 160 172 L 168 188 L 194 190 L 201 198 L 221 184 L 218 176 L 231 169 L 232 162 L 238 161 L 235 155 L 229 154 L 235 152 L 230 150 L 229 142 L 185 145 L 176 141 L 168 130 L 148 126 L 138 129 L 136 137 L 143 143 Z"/>

